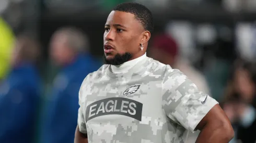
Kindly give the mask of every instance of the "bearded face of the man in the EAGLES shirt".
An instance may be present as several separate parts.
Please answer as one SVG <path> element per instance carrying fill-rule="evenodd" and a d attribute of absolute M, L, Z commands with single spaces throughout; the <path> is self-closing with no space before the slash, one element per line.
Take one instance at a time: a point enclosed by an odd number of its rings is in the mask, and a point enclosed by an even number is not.
<path fill-rule="evenodd" d="M 144 29 L 128 12 L 111 11 L 105 24 L 104 58 L 109 64 L 122 64 L 132 60 L 141 50 L 140 42 Z"/>

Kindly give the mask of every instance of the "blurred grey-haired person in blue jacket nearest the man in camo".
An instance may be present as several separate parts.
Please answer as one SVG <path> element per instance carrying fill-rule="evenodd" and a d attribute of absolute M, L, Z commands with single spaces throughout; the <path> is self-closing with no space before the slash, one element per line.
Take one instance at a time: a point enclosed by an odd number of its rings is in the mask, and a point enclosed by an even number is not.
<path fill-rule="evenodd" d="M 74 142 L 78 91 L 88 73 L 101 66 L 89 53 L 86 35 L 72 27 L 57 30 L 50 42 L 50 55 L 61 71 L 55 77 L 42 119 L 42 142 Z"/>

